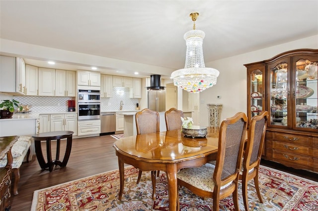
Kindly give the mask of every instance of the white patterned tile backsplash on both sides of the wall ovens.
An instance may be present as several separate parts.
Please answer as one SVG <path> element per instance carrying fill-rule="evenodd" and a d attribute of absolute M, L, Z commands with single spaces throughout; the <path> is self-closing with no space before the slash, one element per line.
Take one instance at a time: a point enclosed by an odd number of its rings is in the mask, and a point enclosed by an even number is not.
<path fill-rule="evenodd" d="M 68 111 L 67 101 L 75 100 L 72 97 L 43 96 L 13 96 L 13 99 L 23 105 L 32 105 L 32 113 L 65 112 Z M 112 98 L 101 98 L 100 109 L 101 111 L 119 110 L 121 101 L 123 101 L 123 110 L 135 110 L 136 104 L 139 103 L 137 98 L 129 98 L 129 88 L 114 87 Z"/>

